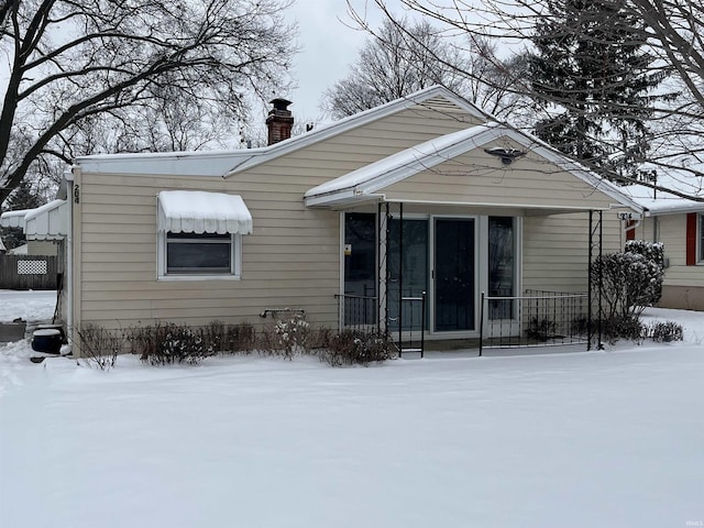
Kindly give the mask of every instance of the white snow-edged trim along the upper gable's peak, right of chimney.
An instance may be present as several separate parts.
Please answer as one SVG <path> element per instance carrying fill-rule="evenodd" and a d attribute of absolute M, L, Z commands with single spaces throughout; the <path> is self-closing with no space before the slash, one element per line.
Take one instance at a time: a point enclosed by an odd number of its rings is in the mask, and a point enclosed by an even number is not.
<path fill-rule="evenodd" d="M 354 116 L 341 119 L 340 121 L 336 121 L 326 127 L 321 127 L 320 129 L 312 130 L 311 132 L 308 132 L 306 134 L 296 135 L 279 143 L 275 143 L 271 146 L 262 148 L 251 148 L 249 151 L 245 151 L 249 156 L 241 156 L 239 158 L 239 163 L 233 165 L 233 167 L 228 170 L 224 177 L 227 178 L 242 170 L 246 170 L 248 168 L 252 168 L 276 157 L 312 145 L 319 141 L 333 138 L 338 134 L 371 123 L 373 121 L 376 121 L 377 119 L 394 114 L 407 108 L 417 105 L 424 105 L 438 97 L 447 99 L 449 102 L 465 110 L 468 113 L 477 119 L 481 119 L 483 121 L 488 121 L 492 119 L 490 114 L 480 110 L 477 107 L 461 98 L 457 94 L 448 90 L 447 88 L 442 86 L 431 86 L 430 88 L 426 88 L 425 90 L 420 90 L 404 98 L 396 99 L 395 101 L 382 105 L 380 107 L 355 113 Z"/>

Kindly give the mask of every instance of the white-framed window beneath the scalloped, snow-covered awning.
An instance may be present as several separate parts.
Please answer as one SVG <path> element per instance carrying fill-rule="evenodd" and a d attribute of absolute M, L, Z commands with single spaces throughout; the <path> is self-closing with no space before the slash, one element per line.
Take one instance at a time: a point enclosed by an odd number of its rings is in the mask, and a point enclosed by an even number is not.
<path fill-rule="evenodd" d="M 239 277 L 241 238 L 239 234 L 161 234 L 162 277 Z"/>

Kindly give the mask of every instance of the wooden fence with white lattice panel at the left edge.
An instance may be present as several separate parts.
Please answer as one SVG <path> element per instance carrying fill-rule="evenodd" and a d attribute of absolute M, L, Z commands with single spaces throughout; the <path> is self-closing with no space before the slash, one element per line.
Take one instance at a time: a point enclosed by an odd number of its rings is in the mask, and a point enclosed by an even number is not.
<path fill-rule="evenodd" d="M 56 256 L 0 255 L 0 289 L 56 289 Z"/>

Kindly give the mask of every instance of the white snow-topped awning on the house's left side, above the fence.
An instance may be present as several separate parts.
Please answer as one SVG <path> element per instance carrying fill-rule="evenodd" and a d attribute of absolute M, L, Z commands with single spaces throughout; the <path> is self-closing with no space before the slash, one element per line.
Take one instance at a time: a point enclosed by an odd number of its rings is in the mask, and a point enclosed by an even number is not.
<path fill-rule="evenodd" d="M 54 200 L 36 209 L 3 212 L 0 226 L 22 228 L 28 240 L 62 240 L 68 234 L 69 212 L 66 200 Z"/>

